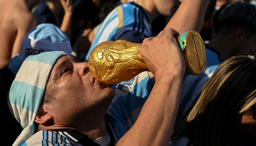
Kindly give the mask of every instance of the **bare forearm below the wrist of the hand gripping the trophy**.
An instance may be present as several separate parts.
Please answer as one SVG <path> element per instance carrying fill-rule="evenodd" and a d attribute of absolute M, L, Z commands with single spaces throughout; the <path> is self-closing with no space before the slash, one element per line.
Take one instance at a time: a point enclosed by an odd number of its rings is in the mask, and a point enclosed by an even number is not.
<path fill-rule="evenodd" d="M 117 145 L 167 145 L 176 120 L 183 76 L 158 78 L 138 119 Z"/>

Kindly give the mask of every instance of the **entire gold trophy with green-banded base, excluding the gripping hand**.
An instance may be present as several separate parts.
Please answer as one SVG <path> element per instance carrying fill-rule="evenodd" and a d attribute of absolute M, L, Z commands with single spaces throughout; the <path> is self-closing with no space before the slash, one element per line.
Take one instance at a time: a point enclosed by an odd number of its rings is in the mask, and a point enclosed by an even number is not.
<path fill-rule="evenodd" d="M 186 73 L 198 75 L 205 65 L 205 46 L 199 33 L 187 31 L 178 36 L 177 42 L 186 60 Z M 137 74 L 148 71 L 139 54 L 141 43 L 125 40 L 106 41 L 97 45 L 88 58 L 89 70 L 99 82 L 115 84 L 128 81 Z"/>

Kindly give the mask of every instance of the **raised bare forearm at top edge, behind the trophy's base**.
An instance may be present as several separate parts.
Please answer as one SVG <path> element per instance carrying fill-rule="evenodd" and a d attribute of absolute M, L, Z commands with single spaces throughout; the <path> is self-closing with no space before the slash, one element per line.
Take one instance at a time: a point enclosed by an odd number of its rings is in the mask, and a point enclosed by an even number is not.
<path fill-rule="evenodd" d="M 183 0 L 164 30 L 173 28 L 180 34 L 189 30 L 200 32 L 209 0 Z"/>

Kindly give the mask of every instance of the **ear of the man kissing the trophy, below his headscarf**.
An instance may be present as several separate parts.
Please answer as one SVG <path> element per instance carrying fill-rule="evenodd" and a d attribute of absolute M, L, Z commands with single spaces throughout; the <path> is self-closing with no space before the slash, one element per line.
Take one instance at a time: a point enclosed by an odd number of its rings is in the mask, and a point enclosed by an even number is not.
<path fill-rule="evenodd" d="M 45 111 L 44 108 L 39 107 L 37 115 L 35 116 L 35 122 L 38 124 L 45 124 L 51 119 L 53 119 L 53 115 Z"/>

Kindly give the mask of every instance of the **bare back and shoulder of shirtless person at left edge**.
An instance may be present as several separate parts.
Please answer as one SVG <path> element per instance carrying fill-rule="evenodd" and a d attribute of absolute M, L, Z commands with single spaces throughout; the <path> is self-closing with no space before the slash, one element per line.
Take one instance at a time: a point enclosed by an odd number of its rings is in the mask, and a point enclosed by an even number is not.
<path fill-rule="evenodd" d="M 22 39 L 36 24 L 37 20 L 25 0 L 0 0 L 0 58 L 5 57 L 4 61 L 8 62 L 10 57 L 19 53 Z"/>

